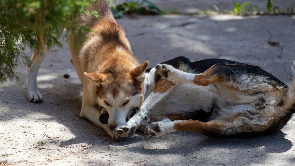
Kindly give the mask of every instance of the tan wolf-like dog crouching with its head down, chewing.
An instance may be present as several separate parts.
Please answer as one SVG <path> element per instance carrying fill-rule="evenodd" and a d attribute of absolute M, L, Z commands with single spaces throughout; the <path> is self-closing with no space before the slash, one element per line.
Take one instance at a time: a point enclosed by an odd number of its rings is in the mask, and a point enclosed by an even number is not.
<path fill-rule="evenodd" d="M 82 16 L 79 21 L 91 27 L 92 32 L 68 33 L 71 63 L 84 88 L 80 116 L 101 126 L 114 140 L 119 140 L 114 129 L 128 121 L 144 100 L 143 81 L 148 61 L 140 65 L 132 55 L 125 32 L 115 21 L 107 2 L 97 0 L 91 3 L 90 10 L 98 11 L 100 17 Z M 37 71 L 51 49 L 45 44 L 42 48 L 42 56 L 35 51 L 28 68 L 27 97 L 31 102 L 42 102 Z"/>

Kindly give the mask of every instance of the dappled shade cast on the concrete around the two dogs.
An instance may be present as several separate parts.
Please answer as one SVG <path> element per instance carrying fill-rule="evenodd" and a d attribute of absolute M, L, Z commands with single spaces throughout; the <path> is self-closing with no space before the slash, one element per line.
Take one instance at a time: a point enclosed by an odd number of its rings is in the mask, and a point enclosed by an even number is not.
<path fill-rule="evenodd" d="M 261 17 L 231 17 L 232 19 L 222 20 L 221 18 L 221 21 L 216 17 L 145 16 L 136 19 L 123 18 L 118 22 L 126 31 L 134 55 L 141 62 L 150 60 L 150 67 L 176 56 L 186 56 L 192 61 L 204 58 L 227 58 L 254 63 L 283 82 L 289 81 L 289 75 L 286 74 L 288 70 L 281 66 L 285 66 L 284 63 L 287 66 L 291 64 L 289 60 L 294 60 L 291 49 L 294 41 L 276 31 L 279 29 L 279 24 L 274 23 L 278 20 L 269 17 L 262 26 L 259 24 L 264 21 Z M 285 27 L 294 25 L 291 22 L 283 23 Z M 130 27 L 130 25 L 134 26 Z M 240 25 L 243 25 L 243 28 Z M 288 32 L 290 30 L 291 28 L 286 29 Z M 272 40 L 284 43 L 283 53 L 279 51 L 279 48 L 268 45 L 267 41 L 270 38 L 268 31 L 273 37 Z M 284 58 L 279 58 L 279 55 Z M 0 110 L 0 122 L 10 123 L 9 121 L 13 118 L 31 118 L 29 119 L 31 123 L 38 120 L 56 122 L 68 128 L 73 135 L 72 138 L 54 139 L 57 146 L 70 147 L 88 143 L 94 149 L 125 152 L 122 154 L 123 157 L 130 154 L 158 155 L 159 157 L 171 154 L 177 155 L 174 159 L 183 161 L 184 158 L 186 159 L 184 154 L 187 154 L 187 157 L 197 156 L 200 159 L 207 155 L 207 157 L 213 157 L 206 159 L 208 161 L 213 162 L 214 156 L 219 156 L 218 160 L 223 163 L 231 163 L 227 161 L 228 158 L 233 161 L 244 161 L 243 156 L 246 156 L 250 159 L 248 163 L 251 164 L 258 158 L 262 162 L 267 160 L 269 154 L 287 152 L 293 146 L 294 141 L 285 138 L 289 133 L 284 134 L 282 131 L 253 139 L 214 138 L 194 132 L 178 132 L 159 138 L 150 138 L 137 131 L 137 135 L 127 140 L 113 141 L 104 131 L 86 119 L 79 118 L 82 85 L 69 63 L 69 58 L 67 45 L 63 49 L 55 48 L 45 58 L 39 71 L 39 76 L 43 79 L 39 79 L 38 84 L 44 96 L 44 101 L 40 104 L 27 101 L 25 81 L 27 74 L 23 66 L 19 66 L 19 73 L 22 74 L 19 82 L 0 85 L 0 106 L 6 108 L 6 110 Z M 273 67 L 272 64 L 276 66 Z M 70 74 L 70 78 L 63 78 L 64 73 Z M 44 116 L 38 119 L 37 115 L 40 114 Z M 52 129 L 52 132 L 54 130 Z M 62 132 L 58 133 L 62 134 Z M 116 151 L 116 148 L 119 150 Z M 194 161 L 198 160 L 194 159 Z M 294 161 L 294 158 L 290 158 L 291 161 Z M 159 163 L 165 165 L 167 162 Z"/>

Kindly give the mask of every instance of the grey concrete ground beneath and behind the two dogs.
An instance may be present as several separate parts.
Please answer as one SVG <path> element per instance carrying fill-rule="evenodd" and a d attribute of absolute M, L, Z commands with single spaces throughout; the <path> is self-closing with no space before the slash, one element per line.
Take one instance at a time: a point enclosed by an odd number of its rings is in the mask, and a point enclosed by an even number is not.
<path fill-rule="evenodd" d="M 155 2 L 161 5 L 160 1 Z M 190 2 L 190 8 L 199 9 L 200 2 Z M 170 3 L 186 10 L 182 1 Z M 126 16 L 117 22 L 125 29 L 134 55 L 140 62 L 149 60 L 150 67 L 176 56 L 192 61 L 226 58 L 261 66 L 281 81 L 291 81 L 290 65 L 295 60 L 294 15 Z M 280 44 L 269 45 L 269 40 Z M 212 138 L 197 132 L 150 138 L 137 131 L 125 141 L 113 141 L 104 131 L 79 118 L 82 85 L 69 59 L 70 51 L 65 44 L 63 49 L 54 48 L 42 63 L 37 78 L 44 97 L 40 104 L 26 99 L 24 65 L 17 68 L 18 82 L 0 85 L 0 165 L 295 163 L 294 118 L 276 134 L 254 139 Z M 63 77 L 65 73 L 70 75 L 68 79 Z"/>

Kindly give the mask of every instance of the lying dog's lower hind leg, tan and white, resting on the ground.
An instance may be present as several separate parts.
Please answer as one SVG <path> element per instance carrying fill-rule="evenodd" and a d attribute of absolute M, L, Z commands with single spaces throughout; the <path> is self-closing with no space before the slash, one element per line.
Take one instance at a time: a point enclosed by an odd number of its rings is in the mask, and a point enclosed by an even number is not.
<path fill-rule="evenodd" d="M 164 119 L 148 126 L 145 129 L 145 135 L 159 137 L 175 131 L 198 131 L 206 136 L 227 135 L 251 138 L 273 133 L 271 130 L 266 130 L 271 121 L 246 113 L 238 113 L 208 122 L 198 120 L 170 121 Z"/>

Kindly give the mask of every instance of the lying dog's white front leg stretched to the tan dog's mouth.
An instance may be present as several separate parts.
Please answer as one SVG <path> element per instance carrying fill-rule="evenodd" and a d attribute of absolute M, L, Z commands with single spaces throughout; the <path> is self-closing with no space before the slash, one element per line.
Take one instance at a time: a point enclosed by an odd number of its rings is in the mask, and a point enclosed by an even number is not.
<path fill-rule="evenodd" d="M 120 137 L 127 137 L 133 134 L 135 130 L 140 126 L 142 121 L 148 119 L 151 110 L 163 101 L 173 90 L 176 84 L 172 84 L 170 81 L 160 79 L 153 89 L 153 92 L 142 103 L 140 110 L 125 124 L 118 126 L 116 132 Z"/>

